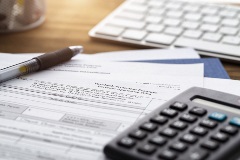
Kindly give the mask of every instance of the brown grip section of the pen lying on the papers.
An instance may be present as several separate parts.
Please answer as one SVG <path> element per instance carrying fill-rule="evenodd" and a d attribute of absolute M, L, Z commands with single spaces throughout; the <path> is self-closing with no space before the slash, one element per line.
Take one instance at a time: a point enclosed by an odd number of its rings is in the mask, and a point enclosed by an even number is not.
<path fill-rule="evenodd" d="M 34 59 L 36 59 L 40 65 L 39 70 L 44 70 L 46 68 L 66 62 L 72 57 L 72 50 L 69 48 L 64 48 L 55 52 L 43 54 L 41 56 L 35 57 Z"/>

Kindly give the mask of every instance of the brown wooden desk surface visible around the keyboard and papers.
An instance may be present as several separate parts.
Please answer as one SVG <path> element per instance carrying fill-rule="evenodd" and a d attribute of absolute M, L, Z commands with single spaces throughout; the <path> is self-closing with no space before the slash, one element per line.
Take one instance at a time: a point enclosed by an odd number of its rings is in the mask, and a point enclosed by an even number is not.
<path fill-rule="evenodd" d="M 46 0 L 46 21 L 38 28 L 0 34 L 0 52 L 49 52 L 71 45 L 85 53 L 132 50 L 137 47 L 93 40 L 88 31 L 123 0 Z M 232 79 L 240 80 L 240 65 L 223 62 Z"/>

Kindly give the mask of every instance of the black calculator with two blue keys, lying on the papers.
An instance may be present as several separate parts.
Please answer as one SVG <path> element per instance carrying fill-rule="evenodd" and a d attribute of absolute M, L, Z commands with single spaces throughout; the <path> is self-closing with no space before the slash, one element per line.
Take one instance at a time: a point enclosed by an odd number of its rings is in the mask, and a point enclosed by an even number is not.
<path fill-rule="evenodd" d="M 198 87 L 181 93 L 104 147 L 112 160 L 235 160 L 240 96 Z"/>

